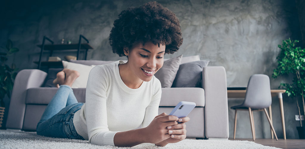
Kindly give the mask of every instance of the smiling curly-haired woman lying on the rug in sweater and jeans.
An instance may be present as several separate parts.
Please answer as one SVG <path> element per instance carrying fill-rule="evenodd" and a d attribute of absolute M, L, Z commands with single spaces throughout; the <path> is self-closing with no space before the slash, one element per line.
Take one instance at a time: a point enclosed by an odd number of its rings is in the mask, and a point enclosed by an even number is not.
<path fill-rule="evenodd" d="M 89 140 L 92 144 L 132 147 L 141 143 L 165 146 L 186 137 L 188 117 L 158 114 L 161 83 L 154 74 L 163 66 L 165 53 L 182 44 L 178 18 L 157 2 L 123 10 L 109 35 L 113 53 L 127 56 L 98 65 L 90 71 L 86 103 L 78 103 L 71 85 L 77 71 L 64 69 L 37 134 Z M 139 129 L 138 129 L 139 128 Z"/>

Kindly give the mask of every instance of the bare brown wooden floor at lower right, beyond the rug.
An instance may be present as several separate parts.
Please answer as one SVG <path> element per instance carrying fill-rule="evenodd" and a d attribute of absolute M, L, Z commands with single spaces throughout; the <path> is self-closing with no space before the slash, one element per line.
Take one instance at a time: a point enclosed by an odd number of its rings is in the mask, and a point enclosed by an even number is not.
<path fill-rule="evenodd" d="M 234 139 L 229 139 L 234 140 Z M 253 141 L 253 139 L 235 139 L 235 140 L 247 140 Z M 262 144 L 265 146 L 278 147 L 278 148 L 289 148 L 289 149 L 304 149 L 305 139 L 255 139 L 255 143 Z"/>

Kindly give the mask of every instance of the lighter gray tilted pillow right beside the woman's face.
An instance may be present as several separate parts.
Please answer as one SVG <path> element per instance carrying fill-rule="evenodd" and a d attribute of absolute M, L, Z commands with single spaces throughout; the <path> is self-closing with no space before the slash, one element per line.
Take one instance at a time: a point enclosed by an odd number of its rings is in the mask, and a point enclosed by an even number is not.
<path fill-rule="evenodd" d="M 182 56 L 183 55 L 180 55 L 164 61 L 162 68 L 156 72 L 155 77 L 160 80 L 162 88 L 170 88 L 170 86 L 172 86 L 179 69 Z"/>

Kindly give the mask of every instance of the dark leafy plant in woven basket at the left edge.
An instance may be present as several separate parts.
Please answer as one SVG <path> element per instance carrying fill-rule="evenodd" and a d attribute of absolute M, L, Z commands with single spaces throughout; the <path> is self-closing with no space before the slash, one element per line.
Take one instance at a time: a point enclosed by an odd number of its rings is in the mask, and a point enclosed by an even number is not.
<path fill-rule="evenodd" d="M 12 64 L 11 67 L 9 67 L 9 65 L 4 63 L 6 60 L 8 60 L 8 56 L 18 51 L 18 48 L 13 48 L 12 41 L 8 40 L 5 48 L 2 47 L 2 51 L 0 52 L 0 128 L 2 127 L 2 120 L 5 111 L 4 98 L 5 95 L 10 98 L 10 93 L 13 90 L 14 80 L 17 75 L 17 68 L 15 64 Z"/>

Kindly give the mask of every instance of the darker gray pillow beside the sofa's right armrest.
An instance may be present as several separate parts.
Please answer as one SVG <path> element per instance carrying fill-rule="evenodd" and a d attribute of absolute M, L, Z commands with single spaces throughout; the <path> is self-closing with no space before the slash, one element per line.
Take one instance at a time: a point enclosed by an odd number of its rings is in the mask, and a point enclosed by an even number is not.
<path fill-rule="evenodd" d="M 209 60 L 181 64 L 171 87 L 202 87 L 202 70 Z"/>

